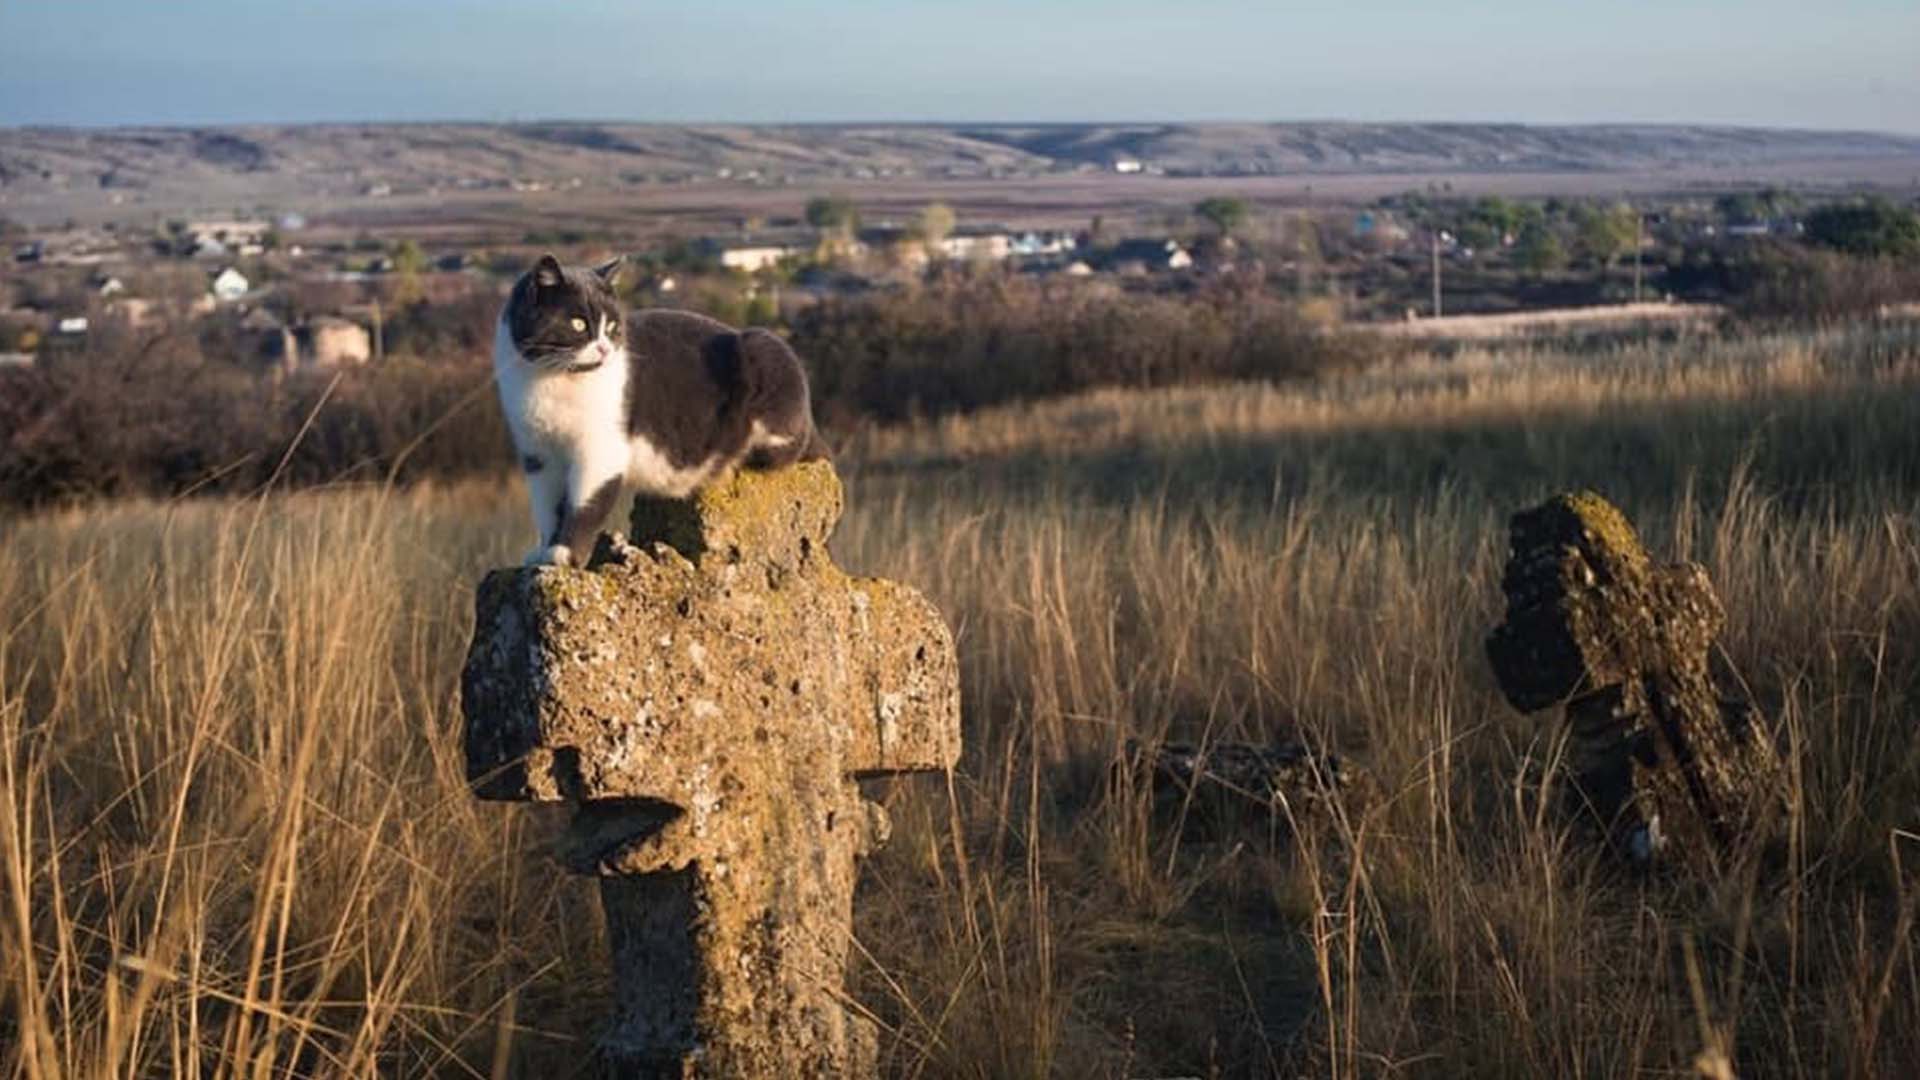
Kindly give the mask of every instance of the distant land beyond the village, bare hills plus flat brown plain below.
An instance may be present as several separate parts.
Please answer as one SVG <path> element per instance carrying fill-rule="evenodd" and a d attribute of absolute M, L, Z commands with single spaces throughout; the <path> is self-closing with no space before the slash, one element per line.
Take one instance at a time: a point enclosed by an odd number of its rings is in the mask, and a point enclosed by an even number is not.
<path fill-rule="evenodd" d="M 1116 161 L 1146 173 L 1117 175 Z M 1154 175 L 1164 171 L 1165 175 Z M 1703 125 L 284 125 L 0 129 L 0 215 L 33 227 L 300 211 L 315 236 L 424 227 L 497 242 L 739 229 L 826 190 L 870 221 L 948 202 L 962 221 L 1083 229 L 1235 192 L 1269 208 L 1463 196 L 1905 190 L 1920 140 Z M 378 194 L 374 194 L 378 192 Z M 338 233 L 336 233 L 338 231 Z"/>

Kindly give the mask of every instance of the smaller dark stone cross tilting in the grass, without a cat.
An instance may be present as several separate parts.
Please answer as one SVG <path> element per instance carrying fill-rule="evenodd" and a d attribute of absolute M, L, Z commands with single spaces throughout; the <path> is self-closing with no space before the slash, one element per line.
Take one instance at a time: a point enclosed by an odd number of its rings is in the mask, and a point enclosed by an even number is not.
<path fill-rule="evenodd" d="M 1565 705 L 1578 794 L 1632 859 L 1711 857 L 1778 811 L 1778 755 L 1724 700 L 1709 651 L 1726 613 L 1695 563 L 1657 565 L 1607 500 L 1517 513 L 1486 653 L 1523 713 Z"/>

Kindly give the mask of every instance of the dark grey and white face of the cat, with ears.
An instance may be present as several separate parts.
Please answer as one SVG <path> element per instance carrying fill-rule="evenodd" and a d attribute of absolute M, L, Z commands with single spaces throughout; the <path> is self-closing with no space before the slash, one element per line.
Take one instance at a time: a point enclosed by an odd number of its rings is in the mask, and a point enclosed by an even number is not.
<path fill-rule="evenodd" d="M 626 342 L 612 279 L 620 259 L 584 269 L 541 256 L 507 298 L 507 332 L 520 359 L 547 371 L 593 371 Z"/>

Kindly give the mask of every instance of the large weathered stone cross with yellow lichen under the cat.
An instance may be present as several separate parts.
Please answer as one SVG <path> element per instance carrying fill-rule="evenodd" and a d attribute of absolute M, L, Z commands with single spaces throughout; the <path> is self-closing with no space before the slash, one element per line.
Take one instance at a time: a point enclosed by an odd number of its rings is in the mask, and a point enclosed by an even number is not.
<path fill-rule="evenodd" d="M 639 500 L 588 569 L 495 571 L 463 678 L 488 799 L 578 807 L 599 874 L 620 1076 L 870 1076 L 847 1007 L 854 859 L 887 836 L 854 780 L 948 769 L 954 642 L 914 590 L 828 557 L 828 463 Z"/>

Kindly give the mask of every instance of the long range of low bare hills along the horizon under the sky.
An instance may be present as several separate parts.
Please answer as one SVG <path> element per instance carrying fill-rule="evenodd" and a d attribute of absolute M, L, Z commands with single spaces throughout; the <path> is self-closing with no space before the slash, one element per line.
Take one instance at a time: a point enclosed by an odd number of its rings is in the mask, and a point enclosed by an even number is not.
<path fill-rule="evenodd" d="M 1661 125 L 298 125 L 0 129 L 0 200 L 205 198 L 1108 171 L 1352 175 L 1920 158 L 1920 138 Z M 1131 167 L 1131 165 L 1129 165 Z M 4 211 L 0 202 L 0 211 Z"/>

